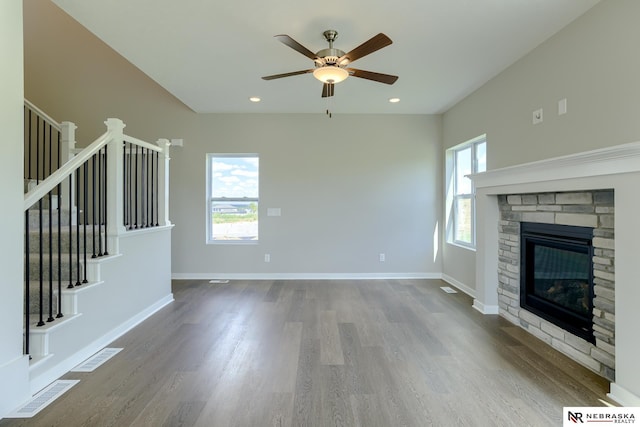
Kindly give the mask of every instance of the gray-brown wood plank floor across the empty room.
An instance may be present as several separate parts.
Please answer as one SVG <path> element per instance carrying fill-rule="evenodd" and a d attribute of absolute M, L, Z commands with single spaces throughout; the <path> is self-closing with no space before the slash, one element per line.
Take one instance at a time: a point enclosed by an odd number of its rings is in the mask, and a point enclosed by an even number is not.
<path fill-rule="evenodd" d="M 439 280 L 175 281 L 176 301 L 8 426 L 553 426 L 608 382 Z"/>

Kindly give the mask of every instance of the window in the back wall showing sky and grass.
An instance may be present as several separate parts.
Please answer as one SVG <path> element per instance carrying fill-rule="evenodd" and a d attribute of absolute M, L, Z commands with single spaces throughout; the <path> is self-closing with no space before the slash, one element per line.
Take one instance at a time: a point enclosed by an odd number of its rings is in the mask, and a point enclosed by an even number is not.
<path fill-rule="evenodd" d="M 258 240 L 256 154 L 207 154 L 207 243 Z"/>

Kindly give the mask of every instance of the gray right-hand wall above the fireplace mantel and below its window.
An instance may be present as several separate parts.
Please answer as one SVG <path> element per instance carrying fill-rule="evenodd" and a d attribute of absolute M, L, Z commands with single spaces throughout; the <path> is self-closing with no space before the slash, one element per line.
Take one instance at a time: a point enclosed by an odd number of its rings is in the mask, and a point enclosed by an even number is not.
<path fill-rule="evenodd" d="M 447 111 L 444 148 L 486 133 L 496 169 L 640 140 L 639 16 L 637 0 L 600 2 Z M 443 254 L 443 272 L 474 288 L 475 252 L 445 244 Z"/>

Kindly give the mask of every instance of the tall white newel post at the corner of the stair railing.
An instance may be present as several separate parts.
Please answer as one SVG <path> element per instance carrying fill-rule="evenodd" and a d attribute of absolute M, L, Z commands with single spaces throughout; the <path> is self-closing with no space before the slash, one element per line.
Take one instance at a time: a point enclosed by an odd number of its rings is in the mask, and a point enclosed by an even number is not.
<path fill-rule="evenodd" d="M 120 119 L 107 119 L 104 122 L 110 133 L 107 143 L 107 250 L 110 255 L 120 253 L 118 237 L 126 233 L 123 214 L 123 171 L 122 154 L 124 151 L 125 124 Z"/>

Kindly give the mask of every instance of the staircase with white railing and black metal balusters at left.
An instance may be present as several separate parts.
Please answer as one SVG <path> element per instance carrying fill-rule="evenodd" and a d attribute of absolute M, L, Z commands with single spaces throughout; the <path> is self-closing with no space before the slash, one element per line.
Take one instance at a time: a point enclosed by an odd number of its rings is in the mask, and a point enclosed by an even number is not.
<path fill-rule="evenodd" d="M 73 123 L 27 109 L 24 351 L 36 392 L 173 301 L 173 225 L 168 141 L 108 119 L 78 150 Z"/>

